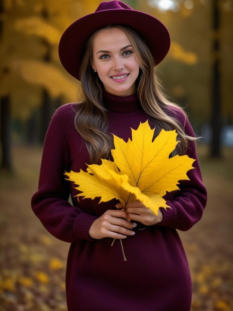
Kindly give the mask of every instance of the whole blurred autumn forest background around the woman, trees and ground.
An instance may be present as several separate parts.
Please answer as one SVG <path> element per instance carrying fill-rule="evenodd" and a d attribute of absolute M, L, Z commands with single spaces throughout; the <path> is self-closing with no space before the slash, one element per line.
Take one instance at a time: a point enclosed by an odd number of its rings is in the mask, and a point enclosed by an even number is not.
<path fill-rule="evenodd" d="M 70 244 L 43 228 L 30 200 L 51 117 L 81 94 L 80 82 L 60 64 L 59 39 L 100 2 L 0 0 L 0 311 L 67 310 Z M 123 2 L 169 30 L 159 78 L 203 136 L 197 151 L 208 203 L 197 224 L 178 230 L 193 281 L 192 310 L 233 310 L 233 1 Z"/>

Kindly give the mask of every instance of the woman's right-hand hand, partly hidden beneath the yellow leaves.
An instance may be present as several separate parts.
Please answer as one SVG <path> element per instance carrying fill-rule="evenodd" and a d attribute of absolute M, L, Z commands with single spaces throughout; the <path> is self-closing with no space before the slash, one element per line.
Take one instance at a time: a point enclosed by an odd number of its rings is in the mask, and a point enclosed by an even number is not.
<path fill-rule="evenodd" d="M 117 208 L 124 207 L 123 204 L 117 203 Z M 132 220 L 141 222 L 146 226 L 156 225 L 163 220 L 163 214 L 158 210 L 158 216 L 144 204 L 138 201 L 131 201 L 126 204 L 126 213 Z"/>

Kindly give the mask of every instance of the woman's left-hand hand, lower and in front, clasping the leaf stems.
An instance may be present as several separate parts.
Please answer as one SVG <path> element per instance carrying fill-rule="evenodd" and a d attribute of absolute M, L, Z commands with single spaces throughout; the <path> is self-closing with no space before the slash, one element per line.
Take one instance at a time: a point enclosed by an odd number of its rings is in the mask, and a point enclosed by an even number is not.
<path fill-rule="evenodd" d="M 89 228 L 89 236 L 94 239 L 113 238 L 126 239 L 133 235 L 131 219 L 123 210 L 107 210 L 93 221 Z"/>

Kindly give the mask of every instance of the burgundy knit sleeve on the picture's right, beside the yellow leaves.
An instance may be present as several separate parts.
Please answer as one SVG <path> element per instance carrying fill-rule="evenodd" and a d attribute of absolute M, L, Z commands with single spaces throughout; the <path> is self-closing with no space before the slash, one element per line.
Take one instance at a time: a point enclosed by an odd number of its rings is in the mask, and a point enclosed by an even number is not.
<path fill-rule="evenodd" d="M 185 118 L 184 130 L 186 134 L 194 137 L 193 128 L 187 117 Z M 186 154 L 190 158 L 196 159 L 193 163 L 195 169 L 190 169 L 187 172 L 190 180 L 180 181 L 178 185 L 180 190 L 177 190 L 173 198 L 167 201 L 167 205 L 172 209 L 159 208 L 163 214 L 163 220 L 156 224 L 158 226 L 187 231 L 203 215 L 207 203 L 207 190 L 202 181 L 195 141 L 189 141 Z"/>

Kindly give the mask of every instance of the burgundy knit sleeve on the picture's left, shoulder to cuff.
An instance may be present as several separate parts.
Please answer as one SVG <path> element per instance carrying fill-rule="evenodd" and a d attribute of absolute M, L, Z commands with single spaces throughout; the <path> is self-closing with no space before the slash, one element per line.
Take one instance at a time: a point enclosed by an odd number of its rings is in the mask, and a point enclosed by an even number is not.
<path fill-rule="evenodd" d="M 38 191 L 31 198 L 31 207 L 43 226 L 65 242 L 77 240 L 95 241 L 88 234 L 89 228 L 98 216 L 85 213 L 69 202 L 69 181 L 64 170 L 69 170 L 70 152 L 58 110 L 53 114 L 45 141 L 39 174 Z"/>

